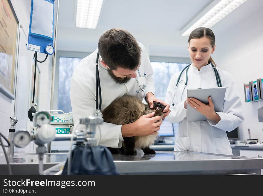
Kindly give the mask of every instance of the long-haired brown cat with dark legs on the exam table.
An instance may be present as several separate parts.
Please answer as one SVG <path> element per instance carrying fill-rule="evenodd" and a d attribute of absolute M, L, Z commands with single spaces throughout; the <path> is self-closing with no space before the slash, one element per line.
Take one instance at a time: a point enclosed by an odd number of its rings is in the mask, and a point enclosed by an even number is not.
<path fill-rule="evenodd" d="M 160 115 L 163 117 L 163 109 L 165 106 L 160 102 L 154 102 L 154 106 L 151 109 L 149 105 L 145 105 L 131 95 L 124 95 L 121 98 L 115 99 L 108 107 L 106 107 L 102 114 L 104 122 L 113 124 L 129 124 L 136 121 L 142 115 L 150 114 L 155 111 L 154 116 Z M 125 155 L 134 155 L 137 149 L 142 149 L 144 154 L 155 154 L 155 150 L 149 148 L 154 143 L 158 136 L 158 132 L 155 135 L 147 136 L 134 136 L 123 138 L 121 152 Z M 112 154 L 117 153 L 117 149 L 109 148 Z"/>

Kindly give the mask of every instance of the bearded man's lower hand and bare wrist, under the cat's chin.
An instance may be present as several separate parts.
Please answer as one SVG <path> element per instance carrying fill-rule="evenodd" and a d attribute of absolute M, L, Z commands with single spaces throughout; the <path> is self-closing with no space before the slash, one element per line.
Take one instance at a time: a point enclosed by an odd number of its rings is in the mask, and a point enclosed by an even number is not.
<path fill-rule="evenodd" d="M 133 136 L 145 136 L 154 135 L 160 129 L 162 124 L 161 116 L 154 116 L 155 112 L 146 114 L 138 118 L 133 123 L 122 125 L 122 136 L 133 137 Z"/>

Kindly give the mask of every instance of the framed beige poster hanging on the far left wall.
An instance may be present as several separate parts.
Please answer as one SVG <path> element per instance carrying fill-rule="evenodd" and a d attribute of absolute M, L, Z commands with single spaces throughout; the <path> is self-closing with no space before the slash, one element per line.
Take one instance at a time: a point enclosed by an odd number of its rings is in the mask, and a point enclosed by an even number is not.
<path fill-rule="evenodd" d="M 15 99 L 15 58 L 18 19 L 8 0 L 0 1 L 0 91 Z"/>

